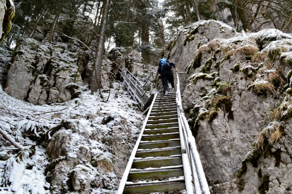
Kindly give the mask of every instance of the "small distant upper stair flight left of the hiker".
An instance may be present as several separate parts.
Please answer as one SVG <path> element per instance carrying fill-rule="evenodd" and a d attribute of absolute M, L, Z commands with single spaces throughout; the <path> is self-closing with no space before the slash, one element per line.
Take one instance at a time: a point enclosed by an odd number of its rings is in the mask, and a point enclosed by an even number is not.
<path fill-rule="evenodd" d="M 143 100 L 142 100 L 142 96 L 143 96 L 143 85 L 140 81 L 138 81 L 138 79 L 131 74 L 127 68 L 121 68 L 121 77 L 124 80 L 125 86 L 127 88 L 127 90 L 130 92 L 131 97 L 136 100 L 137 102 L 139 102 L 140 106 L 143 105 L 143 107 L 146 104 L 150 104 L 147 103 L 147 100 L 149 99 L 150 95 L 148 93 L 145 93 Z M 142 102 L 143 101 L 143 102 Z"/>

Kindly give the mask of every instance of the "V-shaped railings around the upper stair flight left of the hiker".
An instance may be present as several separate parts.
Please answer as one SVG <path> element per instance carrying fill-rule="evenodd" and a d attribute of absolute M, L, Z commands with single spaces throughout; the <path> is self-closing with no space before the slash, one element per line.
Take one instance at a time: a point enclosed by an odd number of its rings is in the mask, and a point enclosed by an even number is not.
<path fill-rule="evenodd" d="M 153 71 L 151 71 L 145 83 L 142 84 L 125 66 L 122 66 L 120 69 L 127 89 L 130 91 L 134 100 L 140 103 L 140 109 L 142 111 L 145 107 L 146 100 L 152 94 Z"/>

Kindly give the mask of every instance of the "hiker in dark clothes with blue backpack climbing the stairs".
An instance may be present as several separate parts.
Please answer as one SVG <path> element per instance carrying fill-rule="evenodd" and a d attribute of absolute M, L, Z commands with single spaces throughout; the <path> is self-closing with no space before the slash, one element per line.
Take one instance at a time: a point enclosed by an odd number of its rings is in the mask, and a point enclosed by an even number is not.
<path fill-rule="evenodd" d="M 169 63 L 168 59 L 162 58 L 159 61 L 157 72 L 160 74 L 160 78 L 161 78 L 162 85 L 163 85 L 163 94 L 164 95 L 168 95 L 168 92 L 171 92 L 171 91 L 168 91 L 168 89 L 167 89 L 167 80 L 171 84 L 171 87 L 174 88 L 174 79 L 173 79 L 173 73 L 171 71 L 171 67 L 174 67 L 175 71 L 177 73 L 179 73 L 175 64 L 172 62 Z"/>

